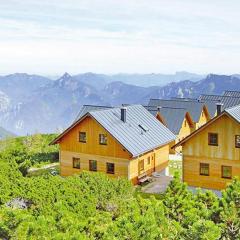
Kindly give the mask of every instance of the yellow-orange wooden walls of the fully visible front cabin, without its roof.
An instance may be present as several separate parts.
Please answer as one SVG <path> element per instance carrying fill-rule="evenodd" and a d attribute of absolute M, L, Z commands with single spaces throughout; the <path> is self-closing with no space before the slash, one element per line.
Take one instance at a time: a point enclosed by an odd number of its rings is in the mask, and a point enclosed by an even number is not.
<path fill-rule="evenodd" d="M 79 141 L 79 133 L 86 133 L 86 142 Z M 99 134 L 104 134 L 107 144 L 99 144 Z M 136 139 L 137 141 L 137 139 Z M 70 176 L 89 171 L 89 161 L 96 161 L 96 170 L 111 177 L 126 177 L 134 184 L 143 173 L 161 171 L 168 165 L 169 145 L 132 158 L 132 155 L 95 119 L 88 116 L 61 137 L 60 174 Z M 79 159 L 80 167 L 74 168 L 73 159 Z M 114 165 L 114 172 L 107 173 L 107 164 Z M 140 165 L 143 169 L 140 169 Z"/>

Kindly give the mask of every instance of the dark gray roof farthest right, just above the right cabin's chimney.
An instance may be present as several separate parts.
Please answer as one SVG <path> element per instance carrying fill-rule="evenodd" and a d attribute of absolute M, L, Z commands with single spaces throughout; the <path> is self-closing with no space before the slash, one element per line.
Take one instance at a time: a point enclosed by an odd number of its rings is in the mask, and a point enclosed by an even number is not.
<path fill-rule="evenodd" d="M 221 96 L 221 95 L 200 95 L 201 101 L 212 101 L 214 103 L 223 103 L 223 110 L 240 104 L 240 97 Z"/>

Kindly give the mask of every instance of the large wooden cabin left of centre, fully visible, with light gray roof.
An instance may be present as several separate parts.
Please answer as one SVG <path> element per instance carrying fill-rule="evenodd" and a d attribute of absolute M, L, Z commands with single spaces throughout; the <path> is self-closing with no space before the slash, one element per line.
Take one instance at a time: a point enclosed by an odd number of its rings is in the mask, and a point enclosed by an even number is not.
<path fill-rule="evenodd" d="M 52 144 L 60 146 L 60 174 L 104 172 L 134 184 L 168 166 L 175 135 L 143 106 L 82 109 Z"/>

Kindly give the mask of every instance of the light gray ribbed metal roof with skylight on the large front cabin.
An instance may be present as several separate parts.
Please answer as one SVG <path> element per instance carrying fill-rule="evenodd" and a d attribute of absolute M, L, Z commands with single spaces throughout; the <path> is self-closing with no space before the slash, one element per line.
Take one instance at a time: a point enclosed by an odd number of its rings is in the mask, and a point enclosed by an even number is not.
<path fill-rule="evenodd" d="M 126 122 L 121 121 L 120 108 L 90 111 L 119 143 L 137 157 L 173 141 L 176 136 L 141 105 L 126 107 Z M 145 129 L 145 130 L 144 130 Z"/>

